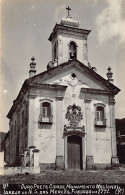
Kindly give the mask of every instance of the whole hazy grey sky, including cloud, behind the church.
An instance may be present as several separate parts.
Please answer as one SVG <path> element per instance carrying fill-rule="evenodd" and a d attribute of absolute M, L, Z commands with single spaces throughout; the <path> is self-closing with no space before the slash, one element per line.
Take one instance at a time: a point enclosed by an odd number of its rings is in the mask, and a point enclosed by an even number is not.
<path fill-rule="evenodd" d="M 114 84 L 121 89 L 116 96 L 116 118 L 125 118 L 125 1 L 124 0 L 0 0 L 1 99 L 0 131 L 9 130 L 6 118 L 25 79 L 29 77 L 31 57 L 37 73 L 51 61 L 48 41 L 56 23 L 70 15 L 80 28 L 92 30 L 88 36 L 88 58 L 97 73 L 113 72 Z"/>

